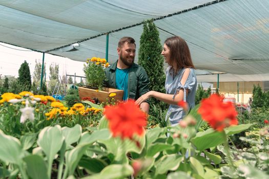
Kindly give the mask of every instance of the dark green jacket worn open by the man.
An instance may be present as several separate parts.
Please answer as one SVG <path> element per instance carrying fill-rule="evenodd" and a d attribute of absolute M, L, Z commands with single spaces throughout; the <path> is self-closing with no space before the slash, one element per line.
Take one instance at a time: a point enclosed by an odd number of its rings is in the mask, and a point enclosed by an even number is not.
<path fill-rule="evenodd" d="M 107 79 L 105 86 L 116 88 L 116 68 L 118 60 L 105 69 Z M 146 71 L 138 64 L 133 63 L 128 72 L 128 97 L 137 100 L 143 94 L 149 92 L 149 77 Z M 148 101 L 147 101 L 148 102 Z"/>

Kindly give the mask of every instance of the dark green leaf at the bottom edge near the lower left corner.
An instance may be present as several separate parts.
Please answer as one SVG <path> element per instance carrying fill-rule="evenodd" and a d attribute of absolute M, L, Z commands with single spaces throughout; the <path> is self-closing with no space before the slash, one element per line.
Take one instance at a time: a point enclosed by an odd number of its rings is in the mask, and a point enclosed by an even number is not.
<path fill-rule="evenodd" d="M 31 178 L 47 179 L 47 166 L 42 156 L 28 155 L 23 159 L 27 165 L 27 173 Z"/>

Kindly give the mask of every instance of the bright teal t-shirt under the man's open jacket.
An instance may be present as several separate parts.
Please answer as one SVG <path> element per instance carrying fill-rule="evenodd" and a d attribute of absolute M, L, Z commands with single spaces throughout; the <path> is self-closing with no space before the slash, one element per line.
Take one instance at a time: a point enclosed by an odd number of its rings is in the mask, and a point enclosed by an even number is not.
<path fill-rule="evenodd" d="M 123 100 L 128 99 L 128 72 L 129 69 L 116 69 L 116 88 L 123 90 Z"/>

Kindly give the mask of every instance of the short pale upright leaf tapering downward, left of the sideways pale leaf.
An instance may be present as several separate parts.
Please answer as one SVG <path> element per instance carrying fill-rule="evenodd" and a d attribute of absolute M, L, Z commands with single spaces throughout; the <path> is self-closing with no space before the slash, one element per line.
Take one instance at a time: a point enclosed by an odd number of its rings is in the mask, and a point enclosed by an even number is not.
<path fill-rule="evenodd" d="M 66 145 L 69 146 L 78 141 L 81 136 L 82 128 L 80 125 L 76 124 L 74 127 L 63 127 L 61 128 L 61 132 L 65 137 Z"/>

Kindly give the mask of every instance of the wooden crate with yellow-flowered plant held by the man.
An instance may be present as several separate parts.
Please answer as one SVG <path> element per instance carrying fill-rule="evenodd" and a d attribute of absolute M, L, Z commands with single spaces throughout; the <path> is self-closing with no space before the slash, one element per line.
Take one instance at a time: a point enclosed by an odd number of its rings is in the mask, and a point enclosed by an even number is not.
<path fill-rule="evenodd" d="M 84 73 L 86 76 L 87 85 L 78 88 L 79 98 L 97 98 L 99 102 L 106 102 L 110 98 L 111 93 L 116 94 L 114 96 L 115 100 L 122 100 L 123 91 L 104 87 L 104 81 L 106 80 L 106 75 L 104 69 L 109 66 L 109 63 L 105 58 L 92 57 L 88 58 L 84 64 Z"/>

